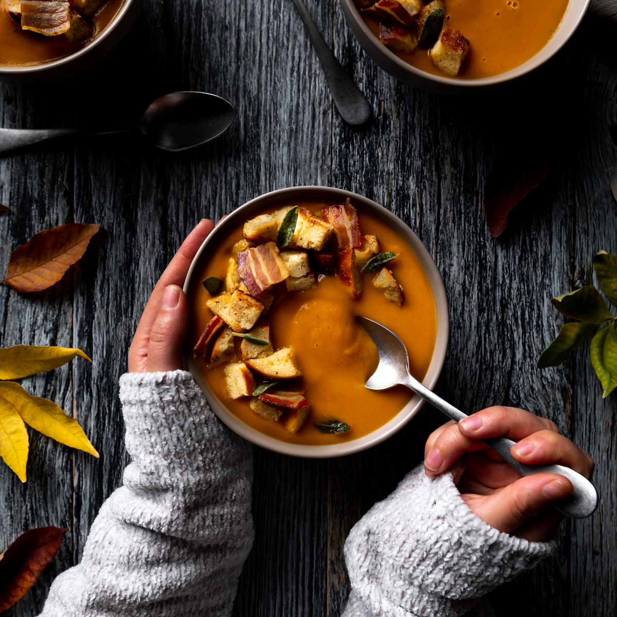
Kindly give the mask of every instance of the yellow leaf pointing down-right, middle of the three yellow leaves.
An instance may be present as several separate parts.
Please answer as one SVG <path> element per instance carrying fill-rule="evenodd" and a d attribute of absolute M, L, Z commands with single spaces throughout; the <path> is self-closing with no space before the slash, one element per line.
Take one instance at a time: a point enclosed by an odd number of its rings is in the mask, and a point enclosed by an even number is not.
<path fill-rule="evenodd" d="M 0 382 L 0 400 L 2 399 L 12 404 L 22 420 L 39 433 L 99 457 L 77 420 L 67 416 L 62 408 L 51 400 L 28 394 L 14 381 Z"/>

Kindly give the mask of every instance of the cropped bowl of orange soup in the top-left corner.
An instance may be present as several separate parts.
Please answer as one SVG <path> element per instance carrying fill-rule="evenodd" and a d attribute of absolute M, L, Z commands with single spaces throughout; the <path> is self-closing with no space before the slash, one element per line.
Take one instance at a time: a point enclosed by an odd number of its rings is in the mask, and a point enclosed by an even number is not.
<path fill-rule="evenodd" d="M 0 0 L 0 80 L 71 77 L 133 27 L 139 0 Z"/>

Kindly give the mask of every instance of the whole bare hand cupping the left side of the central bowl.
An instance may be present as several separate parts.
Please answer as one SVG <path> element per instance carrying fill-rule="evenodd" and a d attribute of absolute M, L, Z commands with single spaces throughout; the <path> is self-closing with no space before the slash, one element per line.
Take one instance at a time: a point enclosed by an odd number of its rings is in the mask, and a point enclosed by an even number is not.
<path fill-rule="evenodd" d="M 130 373 L 183 368 L 182 347 L 188 327 L 188 304 L 182 291 L 193 257 L 214 228 L 203 219 L 182 243 L 150 294 L 128 350 Z"/>

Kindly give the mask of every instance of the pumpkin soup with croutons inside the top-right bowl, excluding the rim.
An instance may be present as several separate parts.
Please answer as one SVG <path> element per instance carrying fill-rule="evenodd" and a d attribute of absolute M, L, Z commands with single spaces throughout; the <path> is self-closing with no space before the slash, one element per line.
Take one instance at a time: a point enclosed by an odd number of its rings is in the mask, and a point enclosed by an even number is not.
<path fill-rule="evenodd" d="M 549 42 L 569 0 L 355 0 L 397 56 L 434 75 L 475 79 L 516 68 Z"/>

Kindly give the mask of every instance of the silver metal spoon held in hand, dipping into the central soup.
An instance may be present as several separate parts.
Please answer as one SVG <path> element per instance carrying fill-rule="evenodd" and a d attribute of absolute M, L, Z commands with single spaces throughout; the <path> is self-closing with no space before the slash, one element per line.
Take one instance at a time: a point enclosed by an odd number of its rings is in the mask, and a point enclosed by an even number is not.
<path fill-rule="evenodd" d="M 459 421 L 468 416 L 453 407 L 445 400 L 438 397 L 428 388 L 424 387 L 409 372 L 409 357 L 405 344 L 391 329 L 381 323 L 366 317 L 357 317 L 360 325 L 366 330 L 368 336 L 373 339 L 379 352 L 379 364 L 375 373 L 366 381 L 366 387 L 370 390 L 386 390 L 392 386 L 407 386 L 410 390 L 419 394 L 423 399 L 445 413 L 452 420 Z M 511 454 L 510 449 L 515 444 L 505 437 L 484 439 L 500 457 L 518 471 L 521 476 L 531 476 L 536 473 L 557 473 L 565 476 L 574 486 L 574 492 L 566 499 L 554 504 L 561 513 L 572 518 L 586 518 L 590 516 L 598 505 L 598 494 L 594 485 L 584 476 L 563 465 L 524 465 L 519 463 Z"/>

